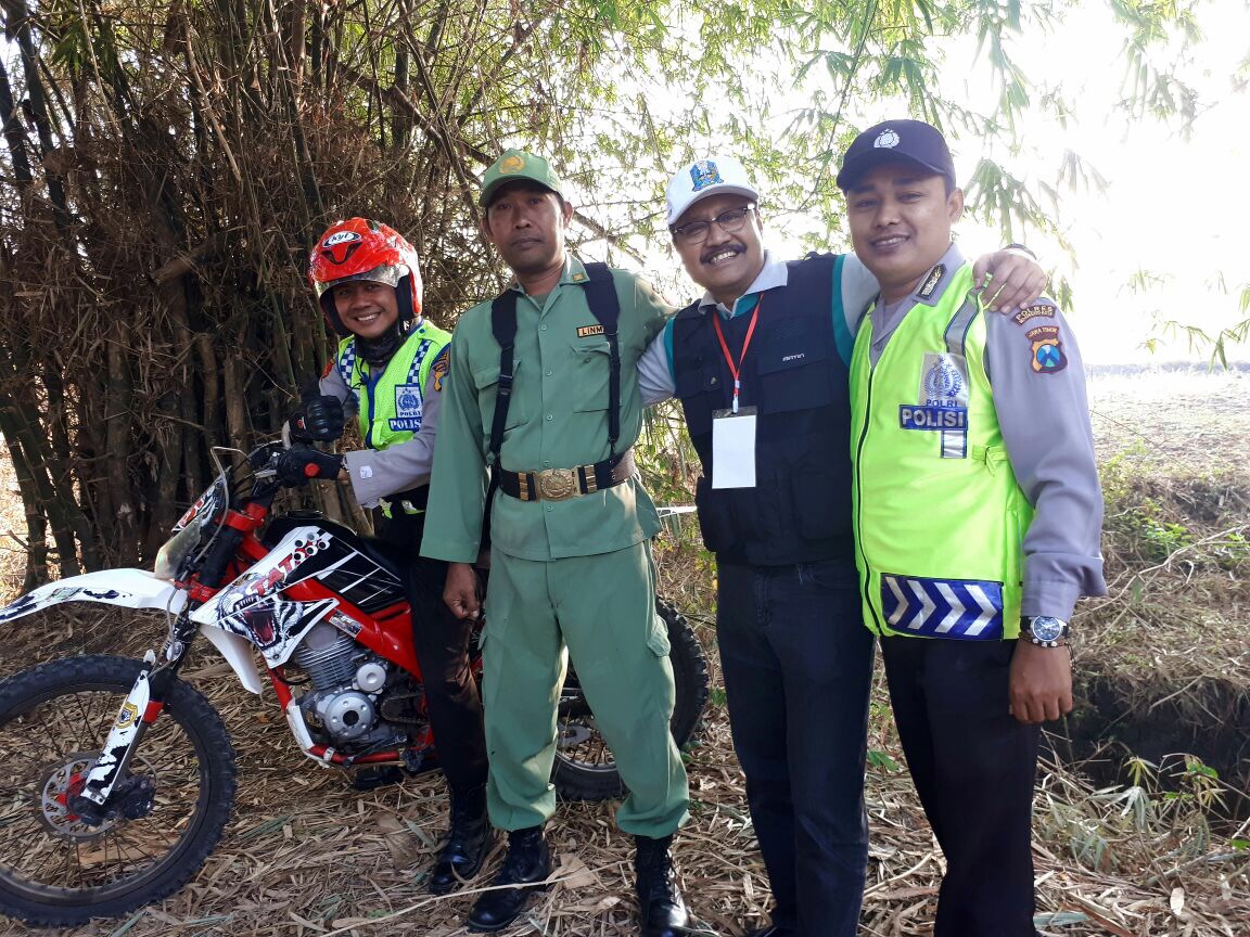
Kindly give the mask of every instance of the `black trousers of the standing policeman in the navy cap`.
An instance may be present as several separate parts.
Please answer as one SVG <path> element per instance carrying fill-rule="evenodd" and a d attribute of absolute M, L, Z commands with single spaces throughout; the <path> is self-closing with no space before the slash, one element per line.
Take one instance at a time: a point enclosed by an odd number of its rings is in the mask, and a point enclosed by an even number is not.
<path fill-rule="evenodd" d="M 1040 726 L 1008 712 L 1015 641 L 881 640 L 908 767 L 946 857 L 934 937 L 1034 937 Z"/>

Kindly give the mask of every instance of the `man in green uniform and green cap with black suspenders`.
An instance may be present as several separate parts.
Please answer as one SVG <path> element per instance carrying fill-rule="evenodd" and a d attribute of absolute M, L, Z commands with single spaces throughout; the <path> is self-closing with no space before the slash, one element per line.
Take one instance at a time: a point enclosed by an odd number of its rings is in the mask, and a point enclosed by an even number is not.
<path fill-rule="evenodd" d="M 686 923 L 670 843 L 689 795 L 669 732 L 668 633 L 654 607 L 649 541 L 659 520 L 630 451 L 642 417 L 636 365 L 671 310 L 634 275 L 566 252 L 572 206 L 546 160 L 504 152 L 486 171 L 480 204 L 486 237 L 516 279 L 456 326 L 421 546 L 451 562 L 451 610 L 476 616 L 470 563 L 491 511 L 488 803 L 509 832 L 495 885 L 515 887 L 484 893 L 469 926 L 506 927 L 550 872 L 542 823 L 555 810 L 568 647 L 629 788 L 616 820 L 638 842 L 641 932 L 671 937 Z"/>

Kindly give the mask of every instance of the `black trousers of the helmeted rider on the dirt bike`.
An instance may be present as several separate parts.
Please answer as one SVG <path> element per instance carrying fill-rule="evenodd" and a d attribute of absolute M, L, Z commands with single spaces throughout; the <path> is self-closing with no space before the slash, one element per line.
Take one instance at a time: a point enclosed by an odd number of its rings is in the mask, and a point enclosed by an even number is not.
<path fill-rule="evenodd" d="M 412 638 L 439 765 L 450 787 L 481 787 L 486 783 L 486 736 L 481 697 L 469 668 L 472 622 L 456 618 L 442 601 L 448 563 L 418 552 L 424 513 L 385 517 L 378 511 L 375 526 L 382 540 L 409 552 L 404 587 L 412 606 Z"/>

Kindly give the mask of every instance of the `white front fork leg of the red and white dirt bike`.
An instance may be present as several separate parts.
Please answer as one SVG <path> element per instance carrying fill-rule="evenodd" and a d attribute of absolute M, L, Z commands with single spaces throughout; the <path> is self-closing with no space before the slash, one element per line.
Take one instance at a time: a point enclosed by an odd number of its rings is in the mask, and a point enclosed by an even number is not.
<path fill-rule="evenodd" d="M 112 721 L 104 748 L 86 775 L 80 797 L 96 807 L 105 806 L 114 787 L 126 776 L 126 768 L 139 750 L 148 727 L 160 716 L 165 693 L 191 650 L 191 640 L 196 633 L 195 623 L 184 611 L 170 627 L 170 636 L 162 651 L 165 661 L 158 665 L 152 651 L 144 655 L 142 670 L 139 671 Z"/>

